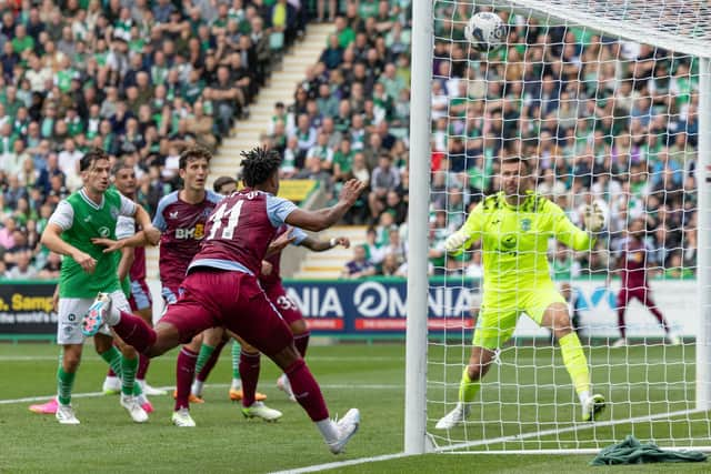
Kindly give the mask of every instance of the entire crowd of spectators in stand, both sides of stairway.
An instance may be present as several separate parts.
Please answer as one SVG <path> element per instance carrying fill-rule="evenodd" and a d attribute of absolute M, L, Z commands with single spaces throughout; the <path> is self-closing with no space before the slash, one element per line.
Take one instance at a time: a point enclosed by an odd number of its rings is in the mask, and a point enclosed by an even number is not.
<path fill-rule="evenodd" d="M 321 181 L 331 196 L 369 183 L 347 223 L 367 244 L 343 275 L 407 271 L 411 2 L 316 2 L 333 32 L 291 100 L 274 105 L 264 142 L 282 178 Z M 481 273 L 481 255 L 444 255 L 443 239 L 484 194 L 497 159 L 534 160 L 537 189 L 573 222 L 605 210 L 594 252 L 551 249 L 557 275 L 613 266 L 624 230 L 643 219 L 655 265 L 695 265 L 698 75 L 688 57 L 583 29 L 508 18 L 509 47 L 477 53 L 463 39 L 471 7 L 435 6 L 432 82 L 433 273 Z M 0 24 L 0 274 L 54 276 L 38 244 L 57 202 L 80 184 L 90 145 L 136 162 L 149 210 L 178 185 L 177 158 L 216 149 L 303 34 L 298 0 L 68 0 L 4 4 Z M 27 256 L 29 256 L 29 264 Z"/>

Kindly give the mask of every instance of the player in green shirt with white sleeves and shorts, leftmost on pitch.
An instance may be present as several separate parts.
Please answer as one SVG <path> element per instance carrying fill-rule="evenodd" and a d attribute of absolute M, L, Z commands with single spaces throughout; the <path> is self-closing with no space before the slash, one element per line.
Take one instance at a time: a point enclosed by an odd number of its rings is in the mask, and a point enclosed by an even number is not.
<path fill-rule="evenodd" d="M 133 201 L 109 188 L 109 155 L 93 149 L 80 160 L 83 188 L 61 201 L 42 233 L 42 243 L 64 255 L 59 281 L 57 342 L 62 346 L 58 379 L 57 420 L 62 424 L 79 424 L 71 406 L 71 390 L 81 360 L 84 337 L 81 320 L 99 292 L 111 293 L 122 307 L 130 311 L 118 278 L 118 259 L 104 253 L 92 239 L 116 239 L 119 216 L 133 216 L 143 226 L 148 240 L 157 243 L 160 233 L 152 226 L 148 213 Z M 142 423 L 148 415 L 133 396 L 138 356 L 136 350 L 120 343 L 122 354 L 112 345 L 108 329 L 97 334 L 97 352 L 111 367 L 122 374 L 121 405 L 133 421 Z"/>

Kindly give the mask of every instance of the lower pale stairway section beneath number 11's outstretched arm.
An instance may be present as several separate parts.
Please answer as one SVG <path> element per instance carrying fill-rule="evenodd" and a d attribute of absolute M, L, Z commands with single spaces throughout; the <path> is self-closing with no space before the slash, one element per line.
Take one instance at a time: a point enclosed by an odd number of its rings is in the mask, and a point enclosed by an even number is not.
<path fill-rule="evenodd" d="M 326 252 L 307 252 L 301 266 L 293 278 L 307 280 L 337 279 L 346 263 L 353 256 L 353 246 L 365 243 L 365 225 L 337 225 L 321 232 L 319 239 L 326 240 L 346 236 L 351 241 L 350 249 L 338 246 Z"/>

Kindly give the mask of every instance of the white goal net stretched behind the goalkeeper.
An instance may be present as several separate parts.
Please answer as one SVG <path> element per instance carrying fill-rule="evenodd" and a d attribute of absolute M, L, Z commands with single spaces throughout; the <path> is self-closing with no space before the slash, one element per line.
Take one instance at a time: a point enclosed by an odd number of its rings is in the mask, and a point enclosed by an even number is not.
<path fill-rule="evenodd" d="M 697 337 L 708 310 L 697 279 L 705 271 L 698 230 L 709 231 L 698 191 L 709 185 L 700 153 L 709 3 L 437 0 L 432 9 L 430 290 L 468 289 L 474 310 L 452 306 L 428 333 L 429 440 L 445 452 L 599 450 L 627 435 L 662 447 L 710 445 L 708 380 L 698 380 L 708 369 L 697 367 L 697 352 L 708 351 L 708 340 Z M 503 19 L 504 47 L 471 48 L 464 26 L 478 11 Z M 591 250 L 551 238 L 547 258 L 592 392 L 607 409 L 594 423 L 582 421 L 561 349 L 522 312 L 467 420 L 438 430 L 460 402 L 472 327 L 483 312 L 481 243 L 455 256 L 443 242 L 500 191 L 499 160 L 519 151 L 530 163 L 531 189 L 572 223 L 582 229 L 592 203 L 604 213 Z M 529 231 L 525 211 L 517 212 L 517 232 Z M 519 291 L 507 300 L 523 307 Z"/>

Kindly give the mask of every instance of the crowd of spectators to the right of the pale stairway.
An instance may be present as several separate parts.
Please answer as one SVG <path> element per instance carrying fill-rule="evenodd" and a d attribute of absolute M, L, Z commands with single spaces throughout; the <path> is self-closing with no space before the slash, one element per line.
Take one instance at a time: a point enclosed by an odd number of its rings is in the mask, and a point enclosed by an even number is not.
<path fill-rule="evenodd" d="M 399 13 L 391 7 L 389 16 L 341 17 L 318 72 L 299 87 L 292 108 L 301 117 L 299 104 L 306 105 L 304 127 L 299 130 L 308 130 L 308 121 L 319 139 L 323 133 L 319 122 L 329 115 L 320 109 L 314 120 L 308 104 L 320 100 L 314 87 L 330 83 L 331 93 L 341 100 L 334 120 L 350 120 L 344 134 L 333 139 L 336 134 L 327 131 L 320 139 L 332 144 L 330 182 L 337 185 L 342 179 L 341 158 L 336 158 L 341 150 L 353 155 L 353 167 L 364 162 L 368 169 L 363 175 L 371 180 L 371 192 L 353 220 L 374 231 L 369 232 L 365 245 L 369 263 L 349 264 L 353 269 L 344 269 L 347 278 L 360 278 L 364 271 L 403 274 L 407 269 L 407 251 L 402 251 L 405 215 L 399 206 L 407 200 L 408 142 L 400 125 L 407 123 L 409 113 L 410 32 Z M 698 63 L 584 29 L 515 17 L 507 18 L 508 47 L 480 54 L 463 36 L 470 13 L 465 3 L 435 7 L 432 273 L 481 276 L 477 248 L 451 258 L 442 243 L 463 223 L 468 210 L 499 190 L 498 158 L 520 153 L 531 161 L 537 191 L 558 203 L 573 223 L 582 224 L 584 205 L 593 201 L 605 213 L 605 233 L 592 252 L 551 246 L 557 279 L 607 275 L 615 268 L 633 220 L 642 220 L 647 229 L 652 273 L 692 275 L 697 261 Z M 367 33 L 361 34 L 363 31 Z M 316 162 L 306 147 L 303 150 L 307 158 L 301 173 L 322 173 L 329 152 Z M 359 253 L 353 262 L 363 259 Z M 393 253 L 399 265 L 389 258 Z"/>

